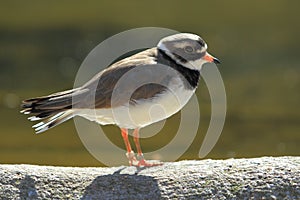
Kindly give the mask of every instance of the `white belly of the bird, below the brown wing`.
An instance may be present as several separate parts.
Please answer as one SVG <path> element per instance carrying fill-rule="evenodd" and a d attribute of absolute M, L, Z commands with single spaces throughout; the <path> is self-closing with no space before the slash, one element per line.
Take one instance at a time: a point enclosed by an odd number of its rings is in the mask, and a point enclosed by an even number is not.
<path fill-rule="evenodd" d="M 133 105 L 108 109 L 84 109 L 77 115 L 99 124 L 116 124 L 121 128 L 135 129 L 164 120 L 177 113 L 191 98 L 195 90 L 175 84 L 170 91 L 151 99 L 139 100 Z"/>

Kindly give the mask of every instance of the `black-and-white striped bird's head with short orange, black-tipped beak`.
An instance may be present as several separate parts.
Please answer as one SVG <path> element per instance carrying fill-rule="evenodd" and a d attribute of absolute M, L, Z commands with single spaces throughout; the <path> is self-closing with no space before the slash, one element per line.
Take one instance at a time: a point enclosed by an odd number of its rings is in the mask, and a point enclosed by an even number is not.
<path fill-rule="evenodd" d="M 207 52 L 207 44 L 198 35 L 179 33 L 161 39 L 157 48 L 184 67 L 201 70 L 204 63 L 220 61 Z"/>

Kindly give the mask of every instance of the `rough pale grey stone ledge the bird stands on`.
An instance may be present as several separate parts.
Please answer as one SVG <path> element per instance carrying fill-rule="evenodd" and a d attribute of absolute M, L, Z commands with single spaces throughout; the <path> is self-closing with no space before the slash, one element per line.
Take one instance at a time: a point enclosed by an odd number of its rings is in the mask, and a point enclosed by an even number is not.
<path fill-rule="evenodd" d="M 151 168 L 0 165 L 0 199 L 300 199 L 300 157 Z"/>

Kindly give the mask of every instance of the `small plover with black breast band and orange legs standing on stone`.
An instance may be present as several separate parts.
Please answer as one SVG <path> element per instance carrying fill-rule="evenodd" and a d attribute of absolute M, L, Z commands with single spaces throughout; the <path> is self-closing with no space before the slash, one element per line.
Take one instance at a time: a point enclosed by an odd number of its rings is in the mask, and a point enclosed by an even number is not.
<path fill-rule="evenodd" d="M 21 113 L 30 115 L 30 121 L 39 121 L 32 126 L 36 133 L 75 116 L 100 125 L 116 125 L 130 166 L 162 165 L 144 158 L 140 129 L 169 118 L 185 106 L 198 86 L 202 66 L 220 64 L 207 49 L 196 34 L 168 35 L 155 47 L 112 63 L 81 87 L 22 101 Z M 161 105 L 163 114 L 149 117 L 147 112 L 153 105 Z M 128 130 L 133 130 L 137 153 L 129 142 Z"/>

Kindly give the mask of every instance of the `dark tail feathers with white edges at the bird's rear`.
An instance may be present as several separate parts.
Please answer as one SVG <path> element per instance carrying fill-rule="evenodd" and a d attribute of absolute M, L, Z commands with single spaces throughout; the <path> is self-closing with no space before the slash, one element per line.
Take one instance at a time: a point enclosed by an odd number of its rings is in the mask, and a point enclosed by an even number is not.
<path fill-rule="evenodd" d="M 21 105 L 23 108 L 21 113 L 31 115 L 28 118 L 30 121 L 42 120 L 33 128 L 36 133 L 44 132 L 74 116 L 72 97 L 77 90 L 73 89 L 49 96 L 27 99 Z"/>

